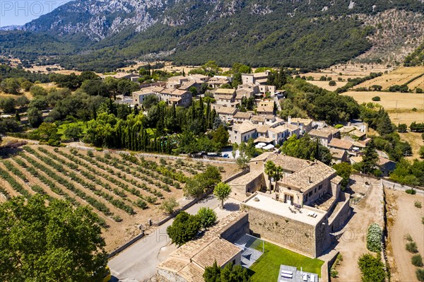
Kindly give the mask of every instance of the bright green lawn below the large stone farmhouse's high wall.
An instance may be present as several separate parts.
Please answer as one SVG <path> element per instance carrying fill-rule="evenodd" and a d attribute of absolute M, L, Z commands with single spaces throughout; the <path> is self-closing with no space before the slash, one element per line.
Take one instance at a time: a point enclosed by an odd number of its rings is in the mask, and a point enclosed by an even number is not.
<path fill-rule="evenodd" d="M 324 262 L 265 242 L 264 254 L 249 269 L 252 282 L 277 281 L 281 264 L 295 266 L 298 270 L 302 267 L 303 271 L 312 272 L 321 277 L 321 266 Z"/>

